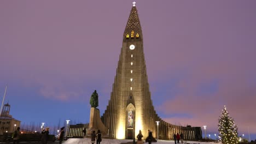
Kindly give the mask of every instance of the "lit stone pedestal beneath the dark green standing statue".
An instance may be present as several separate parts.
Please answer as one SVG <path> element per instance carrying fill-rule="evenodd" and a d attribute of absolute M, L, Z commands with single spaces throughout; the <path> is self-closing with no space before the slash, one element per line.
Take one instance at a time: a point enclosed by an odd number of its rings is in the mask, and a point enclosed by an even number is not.
<path fill-rule="evenodd" d="M 90 135 L 92 131 L 95 131 L 95 134 L 97 134 L 98 130 L 101 131 L 102 135 L 107 135 L 108 128 L 101 121 L 100 110 L 91 107 L 88 135 Z"/>

